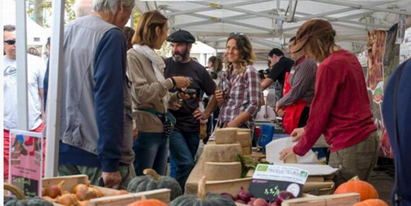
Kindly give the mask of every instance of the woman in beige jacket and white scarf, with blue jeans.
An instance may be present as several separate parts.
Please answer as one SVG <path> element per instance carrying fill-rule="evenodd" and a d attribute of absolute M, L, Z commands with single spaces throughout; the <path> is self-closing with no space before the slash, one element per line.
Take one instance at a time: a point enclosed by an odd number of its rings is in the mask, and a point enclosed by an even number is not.
<path fill-rule="evenodd" d="M 183 76 L 165 78 L 166 64 L 154 51 L 159 50 L 167 38 L 167 21 L 159 11 L 143 13 L 132 38 L 133 47 L 127 52 L 133 116 L 139 130 L 133 142 L 137 176 L 142 176 L 146 168 L 166 175 L 168 138 L 175 123 L 168 105 L 178 101 L 177 93 L 170 95 L 168 91 L 190 85 L 190 80 Z"/>

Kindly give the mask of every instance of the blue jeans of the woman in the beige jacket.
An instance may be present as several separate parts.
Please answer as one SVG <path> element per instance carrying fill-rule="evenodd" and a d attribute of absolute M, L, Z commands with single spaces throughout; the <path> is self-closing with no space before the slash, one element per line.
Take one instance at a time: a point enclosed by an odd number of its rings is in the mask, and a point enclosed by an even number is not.
<path fill-rule="evenodd" d="M 164 137 L 163 132 L 139 132 L 133 150 L 136 154 L 134 169 L 137 176 L 142 176 L 146 168 L 154 169 L 161 176 L 166 175 L 168 138 Z"/>

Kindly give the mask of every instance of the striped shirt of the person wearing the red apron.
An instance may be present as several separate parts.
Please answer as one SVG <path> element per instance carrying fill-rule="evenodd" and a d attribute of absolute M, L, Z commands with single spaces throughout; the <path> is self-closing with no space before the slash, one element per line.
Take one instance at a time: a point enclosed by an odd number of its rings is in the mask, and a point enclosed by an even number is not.
<path fill-rule="evenodd" d="M 305 58 L 296 64 L 289 74 L 291 90 L 278 101 L 279 105 L 291 105 L 299 99 L 311 103 L 316 89 L 316 72 L 317 62 L 314 59 Z"/>

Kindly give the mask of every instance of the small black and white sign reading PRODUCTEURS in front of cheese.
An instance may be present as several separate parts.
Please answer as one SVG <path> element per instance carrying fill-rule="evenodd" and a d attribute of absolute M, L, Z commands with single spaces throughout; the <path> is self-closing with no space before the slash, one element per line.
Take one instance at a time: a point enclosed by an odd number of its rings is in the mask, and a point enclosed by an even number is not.
<path fill-rule="evenodd" d="M 248 191 L 256 198 L 274 201 L 280 191 L 286 190 L 300 197 L 308 171 L 291 166 L 258 164 Z"/>

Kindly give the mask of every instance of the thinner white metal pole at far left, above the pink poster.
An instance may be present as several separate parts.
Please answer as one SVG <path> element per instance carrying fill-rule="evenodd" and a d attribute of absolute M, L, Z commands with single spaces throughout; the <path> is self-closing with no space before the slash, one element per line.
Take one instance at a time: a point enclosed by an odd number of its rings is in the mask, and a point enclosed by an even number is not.
<path fill-rule="evenodd" d="M 25 1 L 16 1 L 17 128 L 28 130 L 27 39 Z"/>

